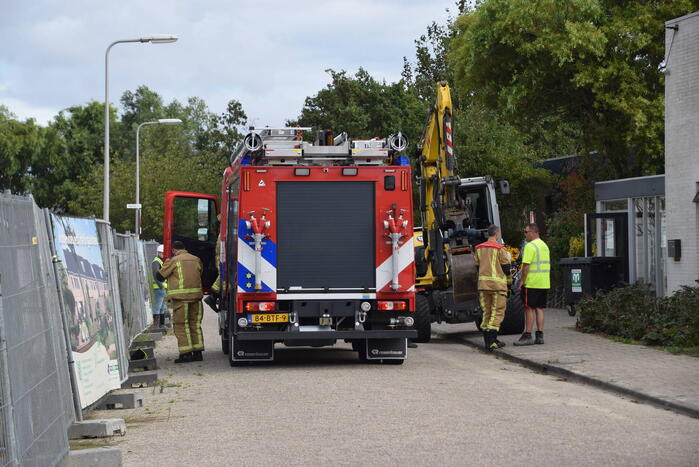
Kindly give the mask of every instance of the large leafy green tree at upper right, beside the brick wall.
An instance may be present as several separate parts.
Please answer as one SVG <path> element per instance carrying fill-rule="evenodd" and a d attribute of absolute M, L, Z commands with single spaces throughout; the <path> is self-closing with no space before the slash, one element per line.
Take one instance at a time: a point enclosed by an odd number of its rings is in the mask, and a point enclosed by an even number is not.
<path fill-rule="evenodd" d="M 457 19 L 450 63 L 462 95 L 534 140 L 548 122 L 540 139 L 553 128 L 579 135 L 580 153 L 598 152 L 610 176 L 656 173 L 664 21 L 696 8 L 693 0 L 485 0 Z"/>

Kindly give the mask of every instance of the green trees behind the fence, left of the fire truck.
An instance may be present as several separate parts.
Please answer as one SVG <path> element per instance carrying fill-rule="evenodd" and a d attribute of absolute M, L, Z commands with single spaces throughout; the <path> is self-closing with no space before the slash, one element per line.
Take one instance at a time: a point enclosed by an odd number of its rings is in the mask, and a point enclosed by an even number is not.
<path fill-rule="evenodd" d="M 228 158 L 246 122 L 240 103 L 231 100 L 217 115 L 196 97 L 186 104 L 165 103 L 141 86 L 121 98 L 121 115 L 110 108 L 110 221 L 120 231 L 134 229 L 136 128 L 161 118 L 181 125 L 141 129 L 140 201 L 143 237 L 160 239 L 165 192 L 216 194 Z M 104 104 L 88 102 L 62 110 L 43 127 L 18 121 L 0 107 L 0 189 L 34 195 L 59 212 L 99 217 L 102 212 Z"/>

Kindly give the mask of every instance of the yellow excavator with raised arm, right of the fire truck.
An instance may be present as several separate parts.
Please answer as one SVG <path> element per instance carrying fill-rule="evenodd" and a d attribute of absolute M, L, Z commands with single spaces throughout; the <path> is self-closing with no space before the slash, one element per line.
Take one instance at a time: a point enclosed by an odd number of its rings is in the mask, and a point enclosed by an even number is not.
<path fill-rule="evenodd" d="M 422 229 L 416 229 L 417 271 L 416 342 L 427 342 L 431 323 L 480 324 L 478 270 L 473 251 L 487 239 L 490 224 L 500 225 L 495 182 L 490 176 L 460 178 L 454 154 L 452 100 L 445 81 L 437 83 L 437 99 L 430 109 L 418 145 L 416 177 Z M 509 193 L 506 180 L 501 193 Z M 510 294 L 500 334 L 524 329 L 524 308 Z"/>

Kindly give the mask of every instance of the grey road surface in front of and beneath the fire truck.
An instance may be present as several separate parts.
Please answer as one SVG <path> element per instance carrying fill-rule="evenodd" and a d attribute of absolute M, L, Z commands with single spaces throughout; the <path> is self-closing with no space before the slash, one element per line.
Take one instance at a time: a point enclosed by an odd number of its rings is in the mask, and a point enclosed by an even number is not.
<path fill-rule="evenodd" d="M 536 374 L 434 340 L 402 366 L 360 364 L 348 345 L 281 347 L 231 368 L 207 310 L 205 361 L 156 355 L 163 385 L 123 416 L 124 464 L 696 466 L 699 420 Z"/>

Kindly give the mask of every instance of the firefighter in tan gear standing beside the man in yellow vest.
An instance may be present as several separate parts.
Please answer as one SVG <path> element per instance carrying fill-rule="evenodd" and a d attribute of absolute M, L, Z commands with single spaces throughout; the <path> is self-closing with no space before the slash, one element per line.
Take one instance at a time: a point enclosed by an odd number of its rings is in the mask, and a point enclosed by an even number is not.
<path fill-rule="evenodd" d="M 500 324 L 505 318 L 507 307 L 507 276 L 510 274 L 510 253 L 500 243 L 500 227 L 488 227 L 488 241 L 476 245 L 478 266 L 478 295 L 483 320 L 481 331 L 486 350 L 505 346 L 498 340 Z"/>

